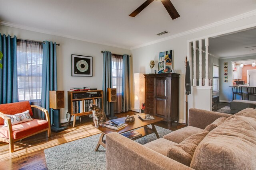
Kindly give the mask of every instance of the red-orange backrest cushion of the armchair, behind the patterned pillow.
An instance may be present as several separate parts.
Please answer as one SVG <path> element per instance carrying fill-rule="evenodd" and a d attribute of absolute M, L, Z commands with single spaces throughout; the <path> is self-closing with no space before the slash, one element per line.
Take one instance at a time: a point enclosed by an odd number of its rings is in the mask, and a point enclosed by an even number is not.
<path fill-rule="evenodd" d="M 15 115 L 17 113 L 22 113 L 26 110 L 29 110 L 29 114 L 32 117 L 33 112 L 32 112 L 30 103 L 28 101 L 0 104 L 0 112 L 8 115 Z M 0 125 L 3 125 L 3 124 L 4 124 L 4 119 L 0 117 Z"/>

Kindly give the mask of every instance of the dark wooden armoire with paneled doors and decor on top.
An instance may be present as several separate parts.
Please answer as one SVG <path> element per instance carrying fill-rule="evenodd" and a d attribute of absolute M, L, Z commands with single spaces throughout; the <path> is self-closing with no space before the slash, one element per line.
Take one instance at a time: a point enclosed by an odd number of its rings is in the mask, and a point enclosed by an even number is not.
<path fill-rule="evenodd" d="M 144 74 L 145 113 L 172 123 L 179 121 L 180 74 Z"/>

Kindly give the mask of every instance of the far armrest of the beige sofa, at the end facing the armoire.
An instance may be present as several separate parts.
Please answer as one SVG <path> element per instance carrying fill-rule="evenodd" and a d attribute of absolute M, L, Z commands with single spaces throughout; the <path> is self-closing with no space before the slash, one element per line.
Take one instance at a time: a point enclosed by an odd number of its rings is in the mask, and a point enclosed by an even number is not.
<path fill-rule="evenodd" d="M 202 109 L 189 109 L 188 125 L 204 129 L 219 117 L 230 117 L 231 114 Z"/>

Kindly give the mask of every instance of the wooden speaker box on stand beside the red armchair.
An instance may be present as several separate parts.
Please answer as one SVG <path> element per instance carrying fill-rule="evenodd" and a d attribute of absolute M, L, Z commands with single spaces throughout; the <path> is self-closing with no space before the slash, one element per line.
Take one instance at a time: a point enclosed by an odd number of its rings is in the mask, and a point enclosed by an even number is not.
<path fill-rule="evenodd" d="M 50 108 L 61 109 L 65 107 L 65 96 L 63 90 L 49 91 Z"/>

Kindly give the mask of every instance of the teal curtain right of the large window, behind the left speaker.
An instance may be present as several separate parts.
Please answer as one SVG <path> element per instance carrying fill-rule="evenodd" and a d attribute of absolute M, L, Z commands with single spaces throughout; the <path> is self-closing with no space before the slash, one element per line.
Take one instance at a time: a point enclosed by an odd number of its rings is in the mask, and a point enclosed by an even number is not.
<path fill-rule="evenodd" d="M 53 112 L 49 107 L 49 91 L 57 90 L 57 61 L 56 42 L 43 43 L 43 70 L 42 70 L 42 107 L 49 111 L 51 125 L 53 125 Z M 43 117 L 43 116 L 42 116 Z M 44 118 L 44 117 L 43 117 Z"/>

